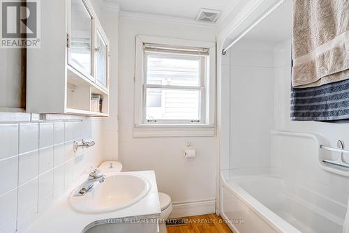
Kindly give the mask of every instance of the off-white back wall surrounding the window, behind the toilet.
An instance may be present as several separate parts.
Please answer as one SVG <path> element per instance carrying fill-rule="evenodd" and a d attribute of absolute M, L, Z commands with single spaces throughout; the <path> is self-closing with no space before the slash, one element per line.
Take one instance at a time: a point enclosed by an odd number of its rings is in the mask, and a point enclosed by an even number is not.
<path fill-rule="evenodd" d="M 155 170 L 158 190 L 168 193 L 174 204 L 214 200 L 215 137 L 133 137 L 136 34 L 215 41 L 214 28 L 122 16 L 119 24 L 119 156 L 124 170 Z M 184 159 L 187 141 L 196 149 L 194 160 Z"/>

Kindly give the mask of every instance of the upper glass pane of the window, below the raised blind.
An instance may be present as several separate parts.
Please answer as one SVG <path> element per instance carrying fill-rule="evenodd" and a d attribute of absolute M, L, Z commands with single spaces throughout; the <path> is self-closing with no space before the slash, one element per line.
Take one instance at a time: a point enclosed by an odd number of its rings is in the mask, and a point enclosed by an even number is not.
<path fill-rule="evenodd" d="M 147 54 L 147 84 L 200 87 L 200 57 Z"/>

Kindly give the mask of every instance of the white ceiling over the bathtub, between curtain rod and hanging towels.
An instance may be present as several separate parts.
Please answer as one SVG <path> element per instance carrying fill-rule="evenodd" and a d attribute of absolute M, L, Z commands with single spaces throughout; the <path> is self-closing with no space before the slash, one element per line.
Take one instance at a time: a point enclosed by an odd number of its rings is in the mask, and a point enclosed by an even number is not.
<path fill-rule="evenodd" d="M 244 39 L 277 43 L 292 33 L 292 1 L 288 0 L 249 31 Z"/>

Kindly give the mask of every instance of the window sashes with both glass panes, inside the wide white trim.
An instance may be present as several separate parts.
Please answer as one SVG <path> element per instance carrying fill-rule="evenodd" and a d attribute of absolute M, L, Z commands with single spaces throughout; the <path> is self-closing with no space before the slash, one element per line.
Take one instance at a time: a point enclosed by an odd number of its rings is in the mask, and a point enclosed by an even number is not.
<path fill-rule="evenodd" d="M 144 45 L 144 121 L 201 123 L 205 119 L 207 50 L 176 53 Z M 201 52 L 200 52 L 201 51 Z"/>

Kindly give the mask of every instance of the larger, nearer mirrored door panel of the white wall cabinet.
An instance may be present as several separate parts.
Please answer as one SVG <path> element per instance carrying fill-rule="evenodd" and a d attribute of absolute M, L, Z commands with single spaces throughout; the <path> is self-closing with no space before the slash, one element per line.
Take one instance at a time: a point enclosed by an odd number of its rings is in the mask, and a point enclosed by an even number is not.
<path fill-rule="evenodd" d="M 87 77 L 92 75 L 93 20 L 83 0 L 70 0 L 70 45 L 68 63 Z"/>

